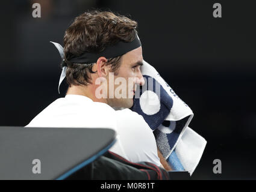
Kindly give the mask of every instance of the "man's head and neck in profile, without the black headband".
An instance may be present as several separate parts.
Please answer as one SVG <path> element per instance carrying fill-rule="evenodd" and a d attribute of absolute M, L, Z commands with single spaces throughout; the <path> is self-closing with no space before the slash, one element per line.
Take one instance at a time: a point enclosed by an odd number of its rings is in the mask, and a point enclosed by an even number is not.
<path fill-rule="evenodd" d="M 64 35 L 64 64 L 67 65 L 66 80 L 69 85 L 67 94 L 78 92 L 112 107 L 131 107 L 133 92 L 138 84 L 144 83 L 140 73 L 143 62 L 141 46 L 113 58 L 99 56 L 92 63 L 69 61 L 84 52 L 101 53 L 120 41 L 132 42 L 137 37 L 136 28 L 135 21 L 107 11 L 91 11 L 76 17 Z M 104 88 L 101 91 L 105 94 L 104 98 L 98 97 L 99 86 Z"/>

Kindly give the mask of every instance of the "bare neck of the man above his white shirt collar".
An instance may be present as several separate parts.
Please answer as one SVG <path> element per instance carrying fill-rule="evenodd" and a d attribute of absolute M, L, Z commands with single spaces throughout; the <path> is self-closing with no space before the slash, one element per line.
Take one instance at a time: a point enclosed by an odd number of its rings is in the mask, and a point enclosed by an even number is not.
<path fill-rule="evenodd" d="M 107 100 L 104 98 L 97 98 L 95 96 L 95 88 L 90 85 L 80 86 L 80 85 L 72 85 L 67 89 L 66 95 L 83 95 L 89 97 L 91 100 L 95 102 L 107 103 Z"/>

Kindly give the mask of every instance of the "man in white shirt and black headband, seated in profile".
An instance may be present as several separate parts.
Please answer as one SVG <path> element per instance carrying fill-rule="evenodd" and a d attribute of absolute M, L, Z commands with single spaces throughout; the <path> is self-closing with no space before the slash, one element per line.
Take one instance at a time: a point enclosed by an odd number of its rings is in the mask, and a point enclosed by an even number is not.
<path fill-rule="evenodd" d="M 27 127 L 113 128 L 117 142 L 110 151 L 134 163 L 167 164 L 151 128 L 128 109 L 137 87 L 145 83 L 136 28 L 135 21 L 107 11 L 76 17 L 64 34 L 66 97 L 51 103 Z M 113 109 L 117 107 L 126 109 Z"/>

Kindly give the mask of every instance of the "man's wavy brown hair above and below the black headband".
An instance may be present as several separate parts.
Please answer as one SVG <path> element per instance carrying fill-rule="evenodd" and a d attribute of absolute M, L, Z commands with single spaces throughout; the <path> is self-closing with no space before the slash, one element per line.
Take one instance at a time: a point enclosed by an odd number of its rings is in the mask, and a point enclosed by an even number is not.
<path fill-rule="evenodd" d="M 76 17 L 64 34 L 64 64 L 67 65 L 66 80 L 71 85 L 89 85 L 93 64 L 72 64 L 73 56 L 84 52 L 102 52 L 107 46 L 119 41 L 131 42 L 136 37 L 137 22 L 109 11 L 88 11 Z M 108 59 L 111 71 L 117 74 L 120 58 Z M 62 66 L 63 67 L 63 64 Z"/>

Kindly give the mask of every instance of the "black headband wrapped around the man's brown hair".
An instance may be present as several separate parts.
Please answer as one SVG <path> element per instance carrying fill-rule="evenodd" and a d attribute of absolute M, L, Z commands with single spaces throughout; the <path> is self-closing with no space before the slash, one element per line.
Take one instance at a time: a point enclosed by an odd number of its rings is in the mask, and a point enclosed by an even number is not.
<path fill-rule="evenodd" d="M 92 64 L 94 62 L 97 62 L 98 58 L 100 58 L 101 56 L 104 56 L 106 59 L 115 58 L 117 56 L 130 52 L 131 50 L 134 50 L 140 46 L 142 46 L 142 44 L 140 43 L 138 35 L 136 35 L 136 38 L 134 38 L 134 40 L 131 42 L 126 43 L 123 41 L 119 41 L 113 46 L 107 46 L 101 53 L 84 52 L 78 57 L 71 58 L 68 61 L 65 60 L 65 62 L 67 62 L 67 64 L 69 62 L 73 64 Z"/>

